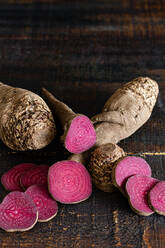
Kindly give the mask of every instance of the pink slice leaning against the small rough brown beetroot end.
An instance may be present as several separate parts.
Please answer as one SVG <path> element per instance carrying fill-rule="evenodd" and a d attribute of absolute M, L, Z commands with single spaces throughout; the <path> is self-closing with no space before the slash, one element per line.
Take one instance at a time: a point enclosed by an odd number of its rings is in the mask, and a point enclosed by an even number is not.
<path fill-rule="evenodd" d="M 113 184 L 125 194 L 125 183 L 130 176 L 143 175 L 151 177 L 151 167 L 140 157 L 127 156 L 120 160 L 112 170 Z"/>

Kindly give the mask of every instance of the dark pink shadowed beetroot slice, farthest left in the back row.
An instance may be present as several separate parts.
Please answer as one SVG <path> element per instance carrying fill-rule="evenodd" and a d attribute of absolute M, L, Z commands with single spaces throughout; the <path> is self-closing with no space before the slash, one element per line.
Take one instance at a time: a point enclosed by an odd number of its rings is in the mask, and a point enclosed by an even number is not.
<path fill-rule="evenodd" d="M 5 172 L 1 177 L 1 183 L 8 191 L 19 190 L 22 191 L 20 186 L 20 176 L 27 170 L 35 168 L 36 165 L 32 163 L 22 163 L 14 166 L 12 169 Z"/>

